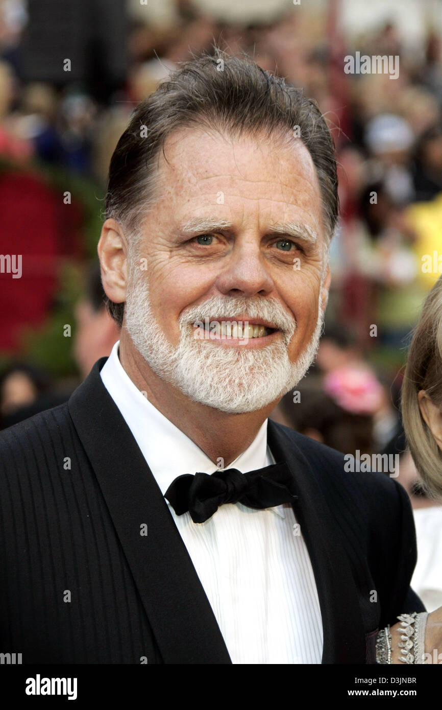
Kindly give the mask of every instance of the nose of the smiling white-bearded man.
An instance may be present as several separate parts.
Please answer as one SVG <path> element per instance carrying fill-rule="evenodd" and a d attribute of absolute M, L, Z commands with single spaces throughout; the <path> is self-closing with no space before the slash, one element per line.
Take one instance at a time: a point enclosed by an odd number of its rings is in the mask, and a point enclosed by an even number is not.
<path fill-rule="evenodd" d="M 227 257 L 225 268 L 216 279 L 216 288 L 223 295 L 269 295 L 274 283 L 265 264 L 260 247 L 254 242 L 236 244 Z"/>

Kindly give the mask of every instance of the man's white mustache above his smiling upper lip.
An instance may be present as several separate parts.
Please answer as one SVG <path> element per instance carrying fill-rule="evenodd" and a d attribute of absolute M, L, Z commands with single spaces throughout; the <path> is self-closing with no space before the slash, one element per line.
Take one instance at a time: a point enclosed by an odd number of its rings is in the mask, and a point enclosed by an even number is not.
<path fill-rule="evenodd" d="M 250 322 L 253 322 L 253 318 L 263 318 L 289 337 L 292 337 L 296 330 L 294 317 L 289 315 L 274 298 L 233 296 L 211 296 L 204 303 L 185 310 L 179 317 L 179 327 L 184 329 L 188 324 L 204 322 L 206 318 L 215 320 L 244 315 L 247 315 Z"/>

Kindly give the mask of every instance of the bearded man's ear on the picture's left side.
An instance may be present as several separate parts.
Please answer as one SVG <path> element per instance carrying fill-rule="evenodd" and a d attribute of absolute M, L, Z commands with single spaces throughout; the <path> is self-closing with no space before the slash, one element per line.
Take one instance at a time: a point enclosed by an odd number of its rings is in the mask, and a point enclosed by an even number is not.
<path fill-rule="evenodd" d="M 104 222 L 97 251 L 104 293 L 114 303 L 123 303 L 128 283 L 128 244 L 115 219 Z"/>

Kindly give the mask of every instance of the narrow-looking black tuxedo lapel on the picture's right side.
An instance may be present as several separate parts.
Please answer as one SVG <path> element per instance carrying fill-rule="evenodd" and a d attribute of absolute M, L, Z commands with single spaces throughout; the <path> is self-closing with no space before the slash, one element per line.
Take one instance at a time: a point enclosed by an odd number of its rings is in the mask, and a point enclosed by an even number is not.
<path fill-rule="evenodd" d="M 269 420 L 267 443 L 275 461 L 286 461 L 298 500 L 294 514 L 309 551 L 324 630 L 322 663 L 365 663 L 365 632 L 358 590 L 333 525 L 324 491 L 309 462 L 289 434 Z"/>

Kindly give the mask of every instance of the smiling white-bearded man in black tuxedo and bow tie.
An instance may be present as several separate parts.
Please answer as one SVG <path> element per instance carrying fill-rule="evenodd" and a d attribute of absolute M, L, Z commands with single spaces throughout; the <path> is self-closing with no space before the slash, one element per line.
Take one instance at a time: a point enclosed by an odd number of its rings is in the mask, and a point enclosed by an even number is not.
<path fill-rule="evenodd" d="M 267 419 L 314 359 L 337 206 L 319 109 L 250 60 L 136 109 L 98 247 L 121 338 L 1 442 L 2 650 L 365 663 L 421 611 L 402 488 Z"/>

